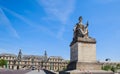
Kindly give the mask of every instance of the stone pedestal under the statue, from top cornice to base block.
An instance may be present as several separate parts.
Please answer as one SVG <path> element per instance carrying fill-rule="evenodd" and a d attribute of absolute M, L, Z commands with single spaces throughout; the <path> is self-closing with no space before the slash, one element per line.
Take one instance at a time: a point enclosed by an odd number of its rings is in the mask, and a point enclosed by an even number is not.
<path fill-rule="evenodd" d="M 96 40 L 77 37 L 70 44 L 70 63 L 68 69 L 100 70 L 101 64 L 96 61 Z"/>

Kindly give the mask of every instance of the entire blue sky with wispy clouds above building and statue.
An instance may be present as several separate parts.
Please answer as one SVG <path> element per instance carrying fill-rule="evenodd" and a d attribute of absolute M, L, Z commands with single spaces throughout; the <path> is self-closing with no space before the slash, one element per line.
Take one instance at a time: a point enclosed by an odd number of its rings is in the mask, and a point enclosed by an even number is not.
<path fill-rule="evenodd" d="M 69 59 L 79 16 L 97 40 L 97 60 L 120 61 L 119 0 L 0 0 L 0 53 Z"/>

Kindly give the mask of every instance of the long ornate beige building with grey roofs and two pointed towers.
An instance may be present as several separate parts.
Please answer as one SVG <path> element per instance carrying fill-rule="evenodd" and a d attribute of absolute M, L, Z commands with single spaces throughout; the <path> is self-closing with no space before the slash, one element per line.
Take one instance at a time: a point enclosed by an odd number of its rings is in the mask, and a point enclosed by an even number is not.
<path fill-rule="evenodd" d="M 61 56 L 47 56 L 45 51 L 43 56 L 39 55 L 23 55 L 21 50 L 18 55 L 1 53 L 0 59 L 7 60 L 7 68 L 9 69 L 47 69 L 53 71 L 61 71 L 67 67 L 68 60 L 64 60 Z"/>

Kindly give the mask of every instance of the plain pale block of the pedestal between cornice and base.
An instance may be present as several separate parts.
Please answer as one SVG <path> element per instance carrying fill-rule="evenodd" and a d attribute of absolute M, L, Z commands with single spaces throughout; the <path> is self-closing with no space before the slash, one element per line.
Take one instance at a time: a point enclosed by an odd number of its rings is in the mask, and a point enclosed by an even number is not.
<path fill-rule="evenodd" d="M 70 48 L 70 61 L 96 62 L 95 43 L 76 42 Z"/>

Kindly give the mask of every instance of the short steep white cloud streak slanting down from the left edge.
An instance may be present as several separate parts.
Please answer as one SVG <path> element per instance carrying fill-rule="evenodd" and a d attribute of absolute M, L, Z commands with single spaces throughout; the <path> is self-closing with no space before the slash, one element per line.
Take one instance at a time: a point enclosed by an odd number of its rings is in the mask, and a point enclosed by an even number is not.
<path fill-rule="evenodd" d="M 5 15 L 4 11 L 0 8 L 0 25 L 5 25 L 6 28 L 9 29 L 10 33 L 16 37 L 19 38 L 19 35 L 17 31 L 12 27 L 10 20 Z"/>

